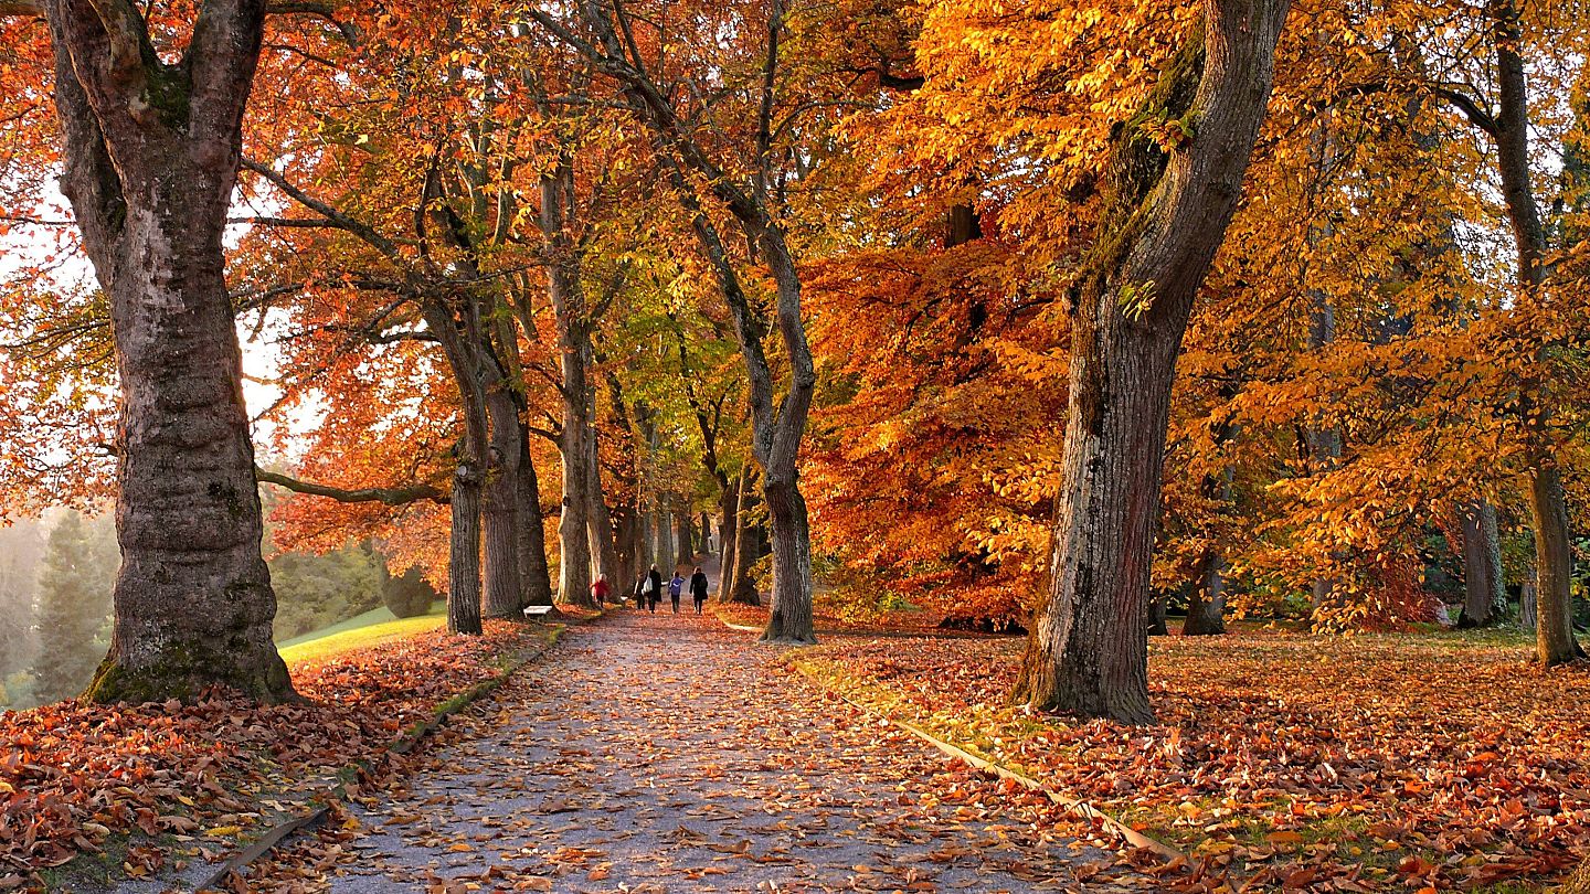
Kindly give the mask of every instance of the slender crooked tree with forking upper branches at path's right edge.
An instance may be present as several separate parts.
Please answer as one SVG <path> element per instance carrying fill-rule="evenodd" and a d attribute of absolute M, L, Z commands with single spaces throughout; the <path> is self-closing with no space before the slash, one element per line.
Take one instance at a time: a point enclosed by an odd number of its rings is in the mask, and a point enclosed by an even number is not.
<path fill-rule="evenodd" d="M 816 372 L 806 342 L 801 317 L 801 278 L 790 247 L 785 224 L 779 216 L 782 191 L 787 180 L 781 162 L 787 159 L 776 140 L 790 135 L 776 118 L 785 105 L 781 102 L 781 40 L 785 32 L 787 8 L 782 2 L 766 3 L 755 17 L 736 16 L 725 22 L 735 29 L 733 46 L 747 46 L 746 57 L 723 59 L 716 65 L 731 65 L 739 84 L 735 94 L 744 99 L 739 108 L 749 115 L 752 127 L 738 127 L 741 134 L 728 145 L 709 145 L 708 135 L 719 113 L 712 108 L 709 119 L 700 119 L 681 102 L 682 95 L 661 86 L 653 73 L 682 76 L 681 59 L 663 56 L 665 68 L 655 68 L 657 57 L 677 45 L 677 37 L 661 40 L 661 29 L 653 22 L 638 19 L 617 3 L 580 3 L 577 16 L 560 19 L 544 11 L 528 10 L 526 14 L 569 48 L 590 59 L 596 68 L 615 81 L 630 110 L 657 137 L 658 150 L 671 169 L 671 181 L 684 204 L 696 232 L 700 250 L 712 264 L 719 288 L 727 302 L 735 331 L 741 344 L 746 374 L 750 383 L 752 453 L 763 468 L 762 488 L 768 501 L 773 528 L 774 584 L 773 611 L 765 641 L 814 643 L 811 622 L 811 531 L 806 501 L 800 492 L 800 444 L 811 409 Z M 757 24 L 750 24 L 757 22 Z M 657 30 L 646 46 L 636 38 L 638 24 Z M 704 51 L 716 33 L 709 19 L 701 19 L 703 40 L 695 48 Z M 668 68 L 671 64 L 674 68 Z M 708 73 L 714 64 L 703 64 Z M 714 91 L 690 91 L 685 95 L 706 97 Z M 723 134 L 727 130 L 719 130 Z M 714 143 L 717 140 L 714 138 Z M 766 264 L 774 285 L 773 326 L 779 331 L 781 345 L 789 363 L 789 387 L 776 399 L 776 375 L 768 360 L 763 337 L 770 321 L 754 307 L 743 283 L 741 272 L 720 231 L 709 216 L 704 202 L 720 204 L 746 240 Z"/>

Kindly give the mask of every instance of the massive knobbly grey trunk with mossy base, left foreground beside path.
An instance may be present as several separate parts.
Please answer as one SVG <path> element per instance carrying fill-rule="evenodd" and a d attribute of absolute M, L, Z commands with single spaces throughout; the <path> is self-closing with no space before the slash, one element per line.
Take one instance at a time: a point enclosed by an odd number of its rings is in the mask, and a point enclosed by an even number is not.
<path fill-rule="evenodd" d="M 114 625 L 87 697 L 293 695 L 272 643 L 223 234 L 264 5 L 199 3 L 165 64 L 132 6 L 48 0 L 60 188 L 110 296 L 121 406 Z"/>

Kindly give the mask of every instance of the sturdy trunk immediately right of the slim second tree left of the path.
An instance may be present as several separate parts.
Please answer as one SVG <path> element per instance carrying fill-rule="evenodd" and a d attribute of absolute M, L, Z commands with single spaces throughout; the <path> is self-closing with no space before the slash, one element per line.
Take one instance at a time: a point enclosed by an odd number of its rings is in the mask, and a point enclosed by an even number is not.
<path fill-rule="evenodd" d="M 491 385 L 487 415 L 491 450 L 482 507 L 487 539 L 482 614 L 520 619 L 525 608 L 525 582 L 520 577 L 520 423 L 507 382 Z"/>

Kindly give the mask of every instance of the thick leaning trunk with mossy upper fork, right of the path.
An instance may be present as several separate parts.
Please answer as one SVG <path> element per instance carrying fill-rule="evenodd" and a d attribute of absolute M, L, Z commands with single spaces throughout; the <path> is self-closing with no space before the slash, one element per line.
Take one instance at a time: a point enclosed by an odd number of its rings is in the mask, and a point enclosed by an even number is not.
<path fill-rule="evenodd" d="M 1202 38 L 1145 118 L 1196 122 L 1169 153 L 1127 127 L 1100 242 L 1073 305 L 1070 412 L 1049 590 L 1014 695 L 1038 709 L 1151 722 L 1143 612 L 1170 387 L 1192 299 L 1242 194 L 1286 0 L 1205 0 Z"/>

